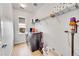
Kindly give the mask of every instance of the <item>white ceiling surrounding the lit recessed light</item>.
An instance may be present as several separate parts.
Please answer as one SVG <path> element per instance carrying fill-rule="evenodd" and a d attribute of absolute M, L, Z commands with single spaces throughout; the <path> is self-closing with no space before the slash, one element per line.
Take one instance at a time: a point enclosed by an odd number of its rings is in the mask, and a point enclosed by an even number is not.
<path fill-rule="evenodd" d="M 21 8 L 20 3 L 12 3 L 12 6 L 14 9 L 27 11 L 30 13 L 36 12 L 40 7 L 44 5 L 44 3 L 24 3 L 26 5 L 26 8 Z"/>

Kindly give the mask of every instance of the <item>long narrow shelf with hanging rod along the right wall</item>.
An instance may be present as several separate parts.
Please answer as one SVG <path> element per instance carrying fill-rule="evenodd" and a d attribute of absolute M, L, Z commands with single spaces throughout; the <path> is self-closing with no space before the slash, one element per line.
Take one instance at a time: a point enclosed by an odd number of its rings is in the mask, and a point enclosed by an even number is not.
<path fill-rule="evenodd" d="M 65 8 L 64 10 L 59 11 L 59 12 L 57 12 L 57 13 L 51 15 L 51 16 L 49 15 L 49 16 L 46 16 L 46 17 L 44 17 L 44 18 L 41 18 L 41 19 L 39 19 L 39 22 L 44 21 L 44 20 L 46 20 L 46 19 L 48 19 L 48 18 L 54 18 L 54 17 L 60 16 L 60 15 L 66 14 L 66 13 L 68 13 L 68 12 L 70 12 L 70 11 L 74 11 L 74 10 L 76 10 L 76 9 L 79 9 L 78 3 L 75 3 L 73 6 L 67 7 L 67 8 Z M 39 22 L 36 22 L 36 23 L 39 23 Z"/>

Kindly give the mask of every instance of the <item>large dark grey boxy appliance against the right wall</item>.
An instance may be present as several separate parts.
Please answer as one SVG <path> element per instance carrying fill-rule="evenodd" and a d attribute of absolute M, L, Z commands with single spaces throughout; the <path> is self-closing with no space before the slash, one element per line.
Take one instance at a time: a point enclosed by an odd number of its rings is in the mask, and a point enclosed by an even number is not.
<path fill-rule="evenodd" d="M 30 45 L 31 45 L 32 51 L 36 51 L 36 50 L 39 50 L 41 48 L 40 47 L 41 39 L 42 39 L 41 32 L 32 33 L 32 36 L 30 38 Z"/>

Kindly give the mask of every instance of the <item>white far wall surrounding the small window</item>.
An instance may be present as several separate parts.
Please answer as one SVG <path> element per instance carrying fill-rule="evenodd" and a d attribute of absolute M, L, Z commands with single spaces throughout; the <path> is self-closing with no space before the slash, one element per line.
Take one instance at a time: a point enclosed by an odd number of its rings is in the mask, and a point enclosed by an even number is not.
<path fill-rule="evenodd" d="M 31 26 L 31 19 L 32 19 L 33 14 L 28 13 L 28 12 L 24 12 L 24 11 L 20 11 L 20 10 L 15 10 L 14 9 L 14 33 L 15 33 L 15 40 L 14 43 L 18 44 L 18 43 L 22 43 L 25 42 L 25 34 L 19 34 L 18 32 L 18 17 L 24 17 L 26 19 L 26 31 L 28 28 L 30 28 Z"/>

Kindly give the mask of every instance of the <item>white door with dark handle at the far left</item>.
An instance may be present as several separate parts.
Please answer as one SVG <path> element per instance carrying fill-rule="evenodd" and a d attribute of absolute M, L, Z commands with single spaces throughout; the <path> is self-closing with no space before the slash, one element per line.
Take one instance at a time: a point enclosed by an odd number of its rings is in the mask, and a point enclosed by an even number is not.
<path fill-rule="evenodd" d="M 1 34 L 2 45 L 7 44 L 6 48 L 2 48 L 1 55 L 10 55 L 13 49 L 13 10 L 10 3 L 1 5 Z"/>

